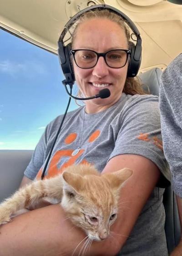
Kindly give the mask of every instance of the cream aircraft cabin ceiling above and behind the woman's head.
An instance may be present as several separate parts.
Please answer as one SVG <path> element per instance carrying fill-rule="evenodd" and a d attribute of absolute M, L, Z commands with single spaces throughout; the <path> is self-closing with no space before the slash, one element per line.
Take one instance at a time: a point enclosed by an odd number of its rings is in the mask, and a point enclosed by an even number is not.
<path fill-rule="evenodd" d="M 182 5 L 167 0 L 0 0 L 0 27 L 57 53 L 69 18 L 95 4 L 112 5 L 134 21 L 142 36 L 143 71 L 165 68 L 182 52 Z"/>

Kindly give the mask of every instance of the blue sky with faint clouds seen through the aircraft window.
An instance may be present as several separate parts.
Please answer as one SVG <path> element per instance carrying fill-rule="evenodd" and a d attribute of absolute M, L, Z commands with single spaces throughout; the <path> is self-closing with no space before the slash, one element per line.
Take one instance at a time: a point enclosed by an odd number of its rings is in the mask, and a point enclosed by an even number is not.
<path fill-rule="evenodd" d="M 35 148 L 66 109 L 63 79 L 56 55 L 0 29 L 0 149 Z M 77 107 L 72 99 L 69 110 Z"/>

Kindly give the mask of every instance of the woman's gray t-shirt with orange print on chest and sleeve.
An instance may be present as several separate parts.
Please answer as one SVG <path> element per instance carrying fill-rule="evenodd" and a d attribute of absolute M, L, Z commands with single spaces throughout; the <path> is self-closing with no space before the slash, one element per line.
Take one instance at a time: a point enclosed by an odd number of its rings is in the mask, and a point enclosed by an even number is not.
<path fill-rule="evenodd" d="M 46 127 L 25 170 L 28 178 L 40 178 L 61 120 L 62 115 Z M 101 172 L 112 157 L 121 154 L 147 157 L 161 171 L 160 188 L 153 190 L 119 255 L 167 256 L 162 194 L 170 183 L 170 172 L 161 139 L 158 97 L 123 93 L 116 104 L 99 113 L 86 114 L 85 107 L 69 112 L 52 152 L 48 177 L 81 162 L 92 163 Z M 77 148 L 80 151 L 74 155 Z"/>

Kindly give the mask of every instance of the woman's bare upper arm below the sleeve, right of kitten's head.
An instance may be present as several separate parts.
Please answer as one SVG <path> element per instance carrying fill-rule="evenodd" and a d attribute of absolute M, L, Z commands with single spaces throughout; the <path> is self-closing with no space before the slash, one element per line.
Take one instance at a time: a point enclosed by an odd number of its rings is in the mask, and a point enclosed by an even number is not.
<path fill-rule="evenodd" d="M 116 223 L 111 227 L 111 230 L 116 234 L 121 234 L 121 236 L 115 237 L 118 247 L 122 247 L 126 242 L 138 215 L 160 178 L 160 171 L 152 161 L 145 157 L 131 154 L 113 157 L 103 172 L 114 172 L 124 167 L 132 169 L 133 175 L 121 188 L 120 200 L 122 203 L 124 199 L 125 204 L 122 212 L 118 213 Z"/>

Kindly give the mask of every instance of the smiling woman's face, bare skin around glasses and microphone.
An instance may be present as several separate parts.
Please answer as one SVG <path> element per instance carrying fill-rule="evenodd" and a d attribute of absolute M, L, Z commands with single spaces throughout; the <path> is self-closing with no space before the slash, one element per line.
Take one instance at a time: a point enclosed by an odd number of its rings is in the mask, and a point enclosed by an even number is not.
<path fill-rule="evenodd" d="M 114 49 L 128 49 L 124 30 L 113 21 L 94 18 L 84 21 L 76 32 L 72 49 L 89 49 L 96 52 L 107 52 Z M 110 68 L 104 57 L 99 57 L 95 67 L 83 69 L 76 66 L 73 61 L 76 83 L 81 93 L 86 96 L 98 94 L 106 86 L 111 92 L 106 99 L 91 99 L 85 101 L 86 112 L 96 113 L 115 104 L 121 97 L 126 81 L 127 66 L 123 68 Z"/>

